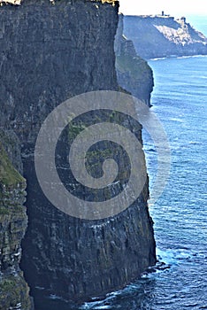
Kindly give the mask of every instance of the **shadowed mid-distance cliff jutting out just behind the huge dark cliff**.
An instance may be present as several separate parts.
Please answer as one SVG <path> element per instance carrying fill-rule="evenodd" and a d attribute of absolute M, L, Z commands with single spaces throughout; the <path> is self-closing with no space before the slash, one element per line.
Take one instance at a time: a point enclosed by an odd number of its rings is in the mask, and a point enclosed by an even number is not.
<path fill-rule="evenodd" d="M 134 43 L 124 34 L 124 16 L 119 14 L 119 26 L 115 39 L 116 71 L 119 85 L 150 106 L 153 90 L 153 73 L 148 63 L 139 57 Z"/>

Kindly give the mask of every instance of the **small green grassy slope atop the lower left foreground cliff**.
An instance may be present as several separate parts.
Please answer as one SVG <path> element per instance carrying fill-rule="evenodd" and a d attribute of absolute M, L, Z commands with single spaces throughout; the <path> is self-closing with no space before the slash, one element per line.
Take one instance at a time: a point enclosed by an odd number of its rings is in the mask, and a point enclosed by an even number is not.
<path fill-rule="evenodd" d="M 16 185 L 20 182 L 25 182 L 25 179 L 12 166 L 10 159 L 8 159 L 8 156 L 0 143 L 0 184 L 10 186 Z"/>

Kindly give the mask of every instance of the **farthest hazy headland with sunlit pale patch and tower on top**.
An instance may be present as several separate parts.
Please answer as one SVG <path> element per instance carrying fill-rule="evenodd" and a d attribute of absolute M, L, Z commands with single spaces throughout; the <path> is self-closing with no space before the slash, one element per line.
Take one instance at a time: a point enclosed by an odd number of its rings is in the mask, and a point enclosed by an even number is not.
<path fill-rule="evenodd" d="M 124 35 L 145 59 L 207 54 L 207 38 L 184 17 L 125 16 Z"/>

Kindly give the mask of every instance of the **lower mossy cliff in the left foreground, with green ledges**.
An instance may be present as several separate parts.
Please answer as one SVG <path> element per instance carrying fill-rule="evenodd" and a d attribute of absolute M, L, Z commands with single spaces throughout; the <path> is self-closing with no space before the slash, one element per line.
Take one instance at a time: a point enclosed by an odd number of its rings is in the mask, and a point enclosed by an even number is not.
<path fill-rule="evenodd" d="M 16 140 L 0 132 L 0 141 L 13 149 Z M 21 241 L 27 229 L 26 181 L 12 166 L 0 142 L 0 309 L 31 308 L 29 289 L 19 268 Z M 13 158 L 15 153 L 12 152 Z M 18 158 L 17 158 L 18 159 Z M 19 159 L 18 159 L 19 160 Z"/>

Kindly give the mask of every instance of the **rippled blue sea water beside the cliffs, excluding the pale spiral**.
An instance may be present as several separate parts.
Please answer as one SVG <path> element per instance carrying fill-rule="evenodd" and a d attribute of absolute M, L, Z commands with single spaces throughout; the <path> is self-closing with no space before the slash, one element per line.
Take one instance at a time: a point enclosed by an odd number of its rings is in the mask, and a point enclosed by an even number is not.
<path fill-rule="evenodd" d="M 51 296 L 41 309 L 207 309 L 207 57 L 150 60 L 156 87 L 151 108 L 171 145 L 169 181 L 149 212 L 159 264 L 124 290 L 81 306 Z M 150 188 L 157 153 L 143 133 Z M 38 300 L 38 298 L 37 298 Z"/>

